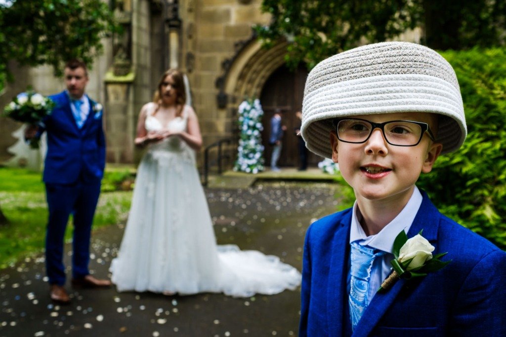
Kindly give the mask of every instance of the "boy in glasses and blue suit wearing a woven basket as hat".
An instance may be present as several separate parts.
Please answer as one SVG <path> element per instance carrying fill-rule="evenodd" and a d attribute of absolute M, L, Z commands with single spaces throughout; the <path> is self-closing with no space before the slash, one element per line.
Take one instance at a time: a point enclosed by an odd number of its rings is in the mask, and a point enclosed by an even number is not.
<path fill-rule="evenodd" d="M 306 233 L 301 336 L 506 335 L 506 253 L 415 186 L 467 134 L 443 57 L 383 42 L 320 62 L 301 133 L 356 197 Z"/>

